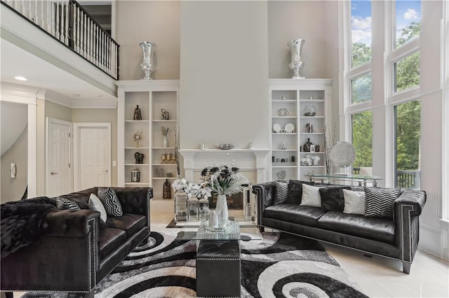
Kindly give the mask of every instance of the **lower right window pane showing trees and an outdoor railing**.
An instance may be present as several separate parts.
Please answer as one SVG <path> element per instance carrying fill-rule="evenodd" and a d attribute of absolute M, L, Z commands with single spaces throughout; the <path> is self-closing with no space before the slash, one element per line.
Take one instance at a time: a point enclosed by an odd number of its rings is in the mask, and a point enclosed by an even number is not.
<path fill-rule="evenodd" d="M 420 119 L 420 101 L 394 106 L 396 187 L 420 189 Z"/>

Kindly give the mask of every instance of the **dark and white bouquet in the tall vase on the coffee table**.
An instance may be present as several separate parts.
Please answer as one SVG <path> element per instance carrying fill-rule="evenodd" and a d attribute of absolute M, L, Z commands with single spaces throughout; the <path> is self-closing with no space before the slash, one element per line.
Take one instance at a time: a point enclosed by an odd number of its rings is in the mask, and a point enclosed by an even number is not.
<path fill-rule="evenodd" d="M 217 194 L 238 194 L 243 191 L 242 185 L 250 185 L 248 179 L 235 166 L 226 164 L 208 166 L 201 171 L 201 186 L 210 187 Z"/>

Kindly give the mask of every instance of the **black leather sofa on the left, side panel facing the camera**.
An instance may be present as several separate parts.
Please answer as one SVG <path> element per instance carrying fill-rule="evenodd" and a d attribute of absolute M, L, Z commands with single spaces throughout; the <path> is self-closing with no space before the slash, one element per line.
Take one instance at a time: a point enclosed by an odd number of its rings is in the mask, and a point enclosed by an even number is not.
<path fill-rule="evenodd" d="M 123 216 L 100 221 L 100 213 L 88 209 L 89 188 L 65 197 L 78 211 L 49 212 L 39 241 L 1 258 L 2 292 L 74 292 L 93 297 L 95 285 L 149 235 L 151 187 L 112 187 Z"/>

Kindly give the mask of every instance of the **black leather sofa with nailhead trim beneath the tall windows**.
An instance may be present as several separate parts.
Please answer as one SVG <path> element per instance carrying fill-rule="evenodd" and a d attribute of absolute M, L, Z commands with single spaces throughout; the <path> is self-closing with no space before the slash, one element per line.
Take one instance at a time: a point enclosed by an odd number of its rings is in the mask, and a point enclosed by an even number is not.
<path fill-rule="evenodd" d="M 290 184 L 293 180 L 290 180 Z M 294 180 L 296 184 L 300 181 Z M 309 182 L 304 182 L 309 184 Z M 323 185 L 319 187 L 342 187 Z M 347 187 L 361 191 L 363 187 Z M 387 257 L 403 263 L 403 272 L 410 265 L 420 239 L 419 216 L 426 202 L 426 193 L 404 190 L 394 201 L 393 218 L 367 217 L 318 207 L 300 206 L 300 198 L 286 204 L 274 205 L 276 183 L 253 185 L 257 199 L 257 225 L 306 236 L 370 255 Z M 340 198 L 341 199 L 341 198 Z"/>

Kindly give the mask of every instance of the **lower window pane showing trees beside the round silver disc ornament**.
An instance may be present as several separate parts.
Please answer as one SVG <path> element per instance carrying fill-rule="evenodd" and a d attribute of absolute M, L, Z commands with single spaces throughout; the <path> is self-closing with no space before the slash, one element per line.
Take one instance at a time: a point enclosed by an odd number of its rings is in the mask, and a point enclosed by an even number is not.
<path fill-rule="evenodd" d="M 352 146 L 356 150 L 354 173 L 372 175 L 373 167 L 373 113 L 365 111 L 351 116 Z"/>

